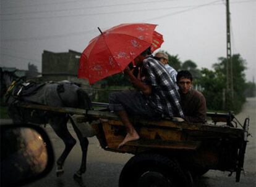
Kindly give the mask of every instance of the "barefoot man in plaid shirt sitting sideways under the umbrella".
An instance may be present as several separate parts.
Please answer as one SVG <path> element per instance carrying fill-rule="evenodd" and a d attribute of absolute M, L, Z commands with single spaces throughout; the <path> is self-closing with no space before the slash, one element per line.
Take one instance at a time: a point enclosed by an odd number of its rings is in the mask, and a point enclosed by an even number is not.
<path fill-rule="evenodd" d="M 130 82 L 139 90 L 109 94 L 109 109 L 119 114 L 127 129 L 127 135 L 119 147 L 127 141 L 140 138 L 129 121 L 128 115 L 155 118 L 184 117 L 176 83 L 170 78 L 163 64 L 150 54 L 150 49 L 147 49 L 134 59 L 135 65 L 140 67 L 137 77 L 128 66 L 124 70 L 124 73 L 129 76 Z"/>

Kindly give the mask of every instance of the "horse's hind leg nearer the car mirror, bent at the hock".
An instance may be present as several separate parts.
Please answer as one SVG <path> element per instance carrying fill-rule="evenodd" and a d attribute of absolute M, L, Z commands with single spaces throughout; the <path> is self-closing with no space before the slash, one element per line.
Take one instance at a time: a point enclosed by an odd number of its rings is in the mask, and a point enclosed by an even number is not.
<path fill-rule="evenodd" d="M 76 140 L 72 137 L 69 130 L 67 129 L 67 117 L 59 116 L 53 117 L 50 122 L 51 127 L 53 128 L 56 135 L 64 142 L 65 149 L 62 152 L 61 156 L 57 160 L 57 170 L 56 175 L 59 177 L 64 173 L 63 165 L 67 156 L 69 155 L 71 149 L 74 147 Z"/>

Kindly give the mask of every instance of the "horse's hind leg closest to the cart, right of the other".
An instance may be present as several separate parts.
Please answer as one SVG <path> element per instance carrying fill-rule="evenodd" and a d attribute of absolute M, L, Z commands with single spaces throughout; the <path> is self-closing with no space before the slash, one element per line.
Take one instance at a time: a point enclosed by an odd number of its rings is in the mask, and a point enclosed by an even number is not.
<path fill-rule="evenodd" d="M 70 117 L 70 121 L 73 125 L 75 133 L 77 134 L 77 138 L 79 138 L 80 146 L 81 146 L 81 149 L 82 149 L 82 162 L 81 162 L 81 165 L 80 165 L 80 169 L 74 174 L 74 178 L 81 178 L 81 175 L 83 173 L 85 173 L 85 171 L 86 171 L 87 150 L 88 150 L 89 141 L 88 141 L 87 137 L 83 136 L 82 132 L 77 127 L 75 119 L 73 117 Z"/>

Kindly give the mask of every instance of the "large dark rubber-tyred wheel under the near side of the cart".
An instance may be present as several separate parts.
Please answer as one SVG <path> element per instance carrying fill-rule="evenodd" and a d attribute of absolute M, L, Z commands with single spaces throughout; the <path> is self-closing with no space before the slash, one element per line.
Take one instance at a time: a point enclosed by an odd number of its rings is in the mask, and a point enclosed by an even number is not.
<path fill-rule="evenodd" d="M 139 154 L 124 165 L 119 187 L 190 186 L 189 180 L 177 161 L 161 154 Z"/>

